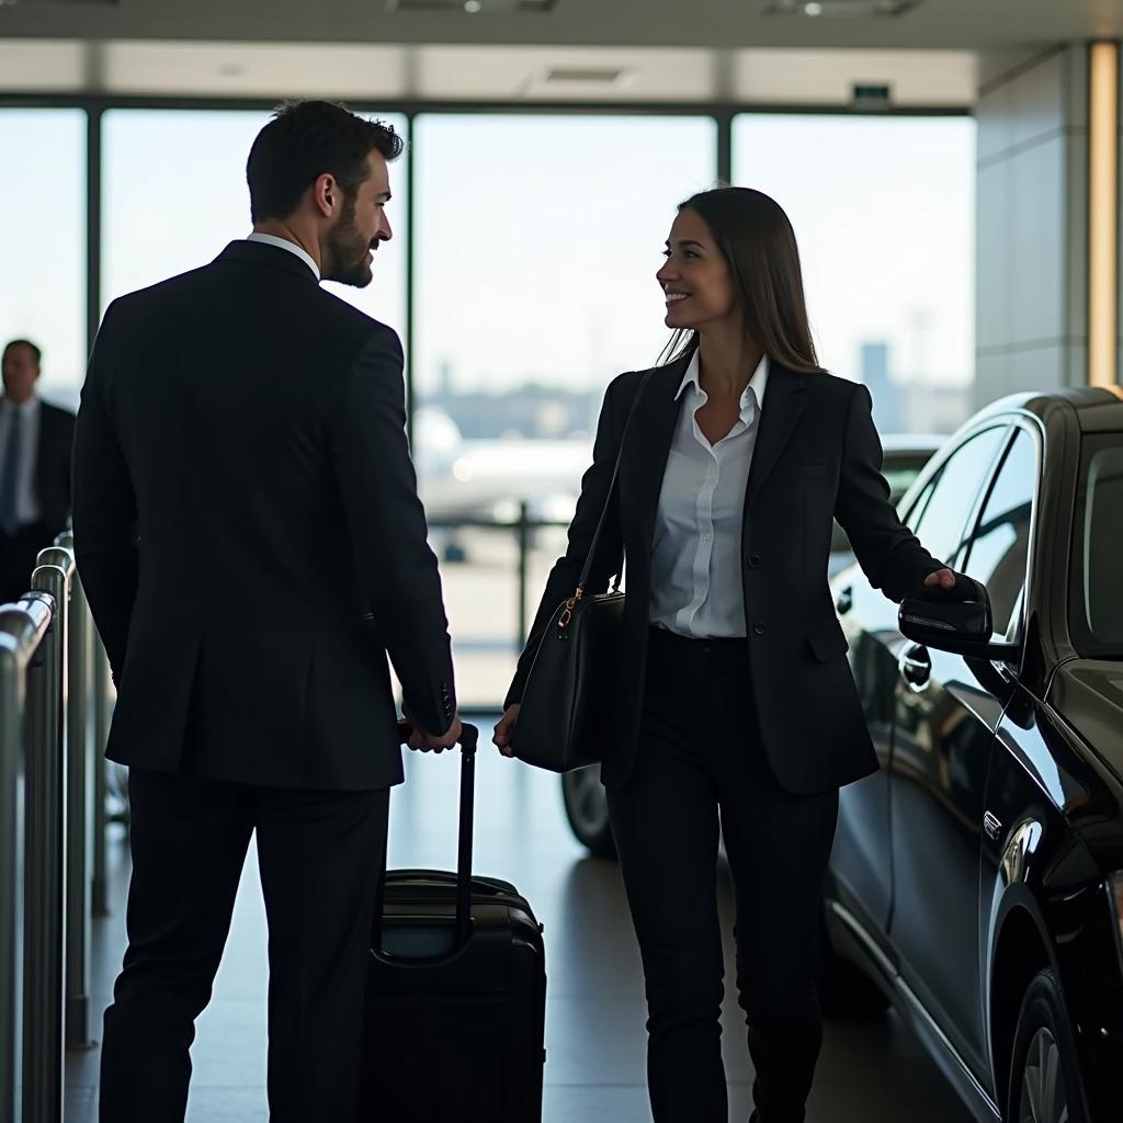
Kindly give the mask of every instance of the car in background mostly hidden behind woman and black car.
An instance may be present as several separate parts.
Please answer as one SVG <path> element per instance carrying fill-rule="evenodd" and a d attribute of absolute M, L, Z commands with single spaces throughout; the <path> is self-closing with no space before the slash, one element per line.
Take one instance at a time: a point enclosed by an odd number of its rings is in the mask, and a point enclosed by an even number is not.
<path fill-rule="evenodd" d="M 946 439 L 924 433 L 889 433 L 882 438 L 882 447 L 885 450 L 882 472 L 889 484 L 894 503 L 909 490 L 921 468 Z M 827 566 L 828 576 L 833 577 L 852 562 L 850 540 L 846 531 L 834 523 L 831 555 Z M 577 840 L 592 853 L 615 857 L 617 849 L 609 827 L 609 805 L 601 785 L 600 767 L 593 765 L 590 768 L 564 774 L 562 800 L 569 827 Z"/>

